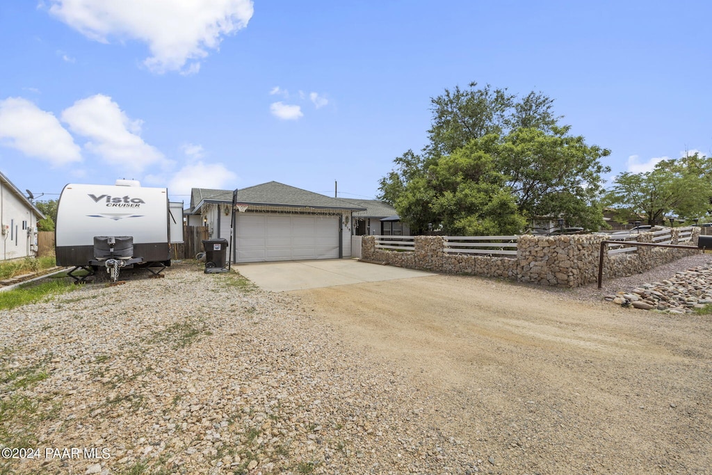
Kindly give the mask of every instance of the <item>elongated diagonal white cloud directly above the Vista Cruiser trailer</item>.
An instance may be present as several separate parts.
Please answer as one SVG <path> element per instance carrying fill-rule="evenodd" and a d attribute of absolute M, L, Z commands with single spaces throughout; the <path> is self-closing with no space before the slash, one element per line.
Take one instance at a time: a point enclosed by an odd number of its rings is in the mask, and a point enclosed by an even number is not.
<path fill-rule="evenodd" d="M 85 148 L 105 162 L 130 172 L 166 163 L 163 154 L 140 137 L 141 121 L 130 120 L 107 95 L 78 100 L 62 113 L 62 120 L 78 135 L 88 137 Z"/>

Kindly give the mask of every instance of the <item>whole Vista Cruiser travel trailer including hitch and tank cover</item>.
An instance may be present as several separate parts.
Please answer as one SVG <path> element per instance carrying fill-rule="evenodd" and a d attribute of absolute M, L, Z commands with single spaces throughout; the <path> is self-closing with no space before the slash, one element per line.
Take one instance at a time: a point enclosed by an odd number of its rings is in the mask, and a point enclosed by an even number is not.
<path fill-rule="evenodd" d="M 69 275 L 105 268 L 116 281 L 121 268 L 140 266 L 153 275 L 171 265 L 172 243 L 183 242 L 183 204 L 168 201 L 165 188 L 142 187 L 135 180 L 115 185 L 68 184 L 57 207 L 58 266 Z M 158 269 L 157 271 L 155 269 Z"/>

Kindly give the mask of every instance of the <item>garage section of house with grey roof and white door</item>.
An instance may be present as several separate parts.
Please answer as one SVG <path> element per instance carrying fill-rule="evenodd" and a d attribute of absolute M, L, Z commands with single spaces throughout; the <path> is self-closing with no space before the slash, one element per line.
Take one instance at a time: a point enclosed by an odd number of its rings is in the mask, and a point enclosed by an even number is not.
<path fill-rule="evenodd" d="M 352 214 L 364 212 L 342 199 L 268 182 L 231 190 L 194 188 L 189 226 L 208 226 L 210 239 L 227 239 L 231 261 L 300 261 L 351 256 Z M 234 236 L 230 228 L 234 222 Z"/>

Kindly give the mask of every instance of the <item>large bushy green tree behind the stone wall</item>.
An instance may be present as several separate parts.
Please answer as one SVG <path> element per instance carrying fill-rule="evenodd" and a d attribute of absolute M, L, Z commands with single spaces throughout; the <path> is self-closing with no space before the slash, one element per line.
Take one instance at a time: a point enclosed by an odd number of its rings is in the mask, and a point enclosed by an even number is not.
<path fill-rule="evenodd" d="M 570 135 L 570 127 L 557 125 L 552 99 L 535 92 L 518 99 L 506 89 L 477 89 L 471 83 L 466 90 L 446 89 L 431 104 L 429 144 L 420 154 L 409 150 L 396 158 L 394 169 L 380 182 L 380 198 L 394 204 L 414 231 L 432 222 L 449 234 L 490 234 L 486 229 L 511 233 L 534 216 L 562 216 L 571 225 L 590 229 L 602 224 L 601 174 L 609 169 L 599 160 L 609 151 L 586 145 L 583 137 Z M 437 179 L 449 169 L 447 164 L 462 162 L 461 153 L 486 162 L 491 173 Z M 477 200 L 468 206 L 453 201 L 466 189 L 497 199 L 488 202 L 492 208 Z M 508 214 L 492 221 L 492 209 Z"/>

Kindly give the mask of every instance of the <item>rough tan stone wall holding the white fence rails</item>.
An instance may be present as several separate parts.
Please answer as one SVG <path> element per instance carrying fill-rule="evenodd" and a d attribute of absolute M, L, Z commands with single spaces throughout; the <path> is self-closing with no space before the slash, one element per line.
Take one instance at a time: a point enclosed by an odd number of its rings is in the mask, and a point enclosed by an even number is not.
<path fill-rule="evenodd" d="M 678 231 L 673 230 L 672 244 L 677 244 Z M 655 266 L 690 256 L 696 248 L 699 228 L 693 228 L 691 250 L 638 246 L 637 251 L 604 254 L 604 278 L 631 276 Z M 652 242 L 652 233 L 641 233 L 639 242 Z M 389 263 L 392 266 L 442 273 L 464 273 L 473 276 L 508 278 L 546 286 L 578 287 L 598 280 L 601 242 L 598 234 L 564 236 L 519 236 L 517 255 L 513 258 L 447 254 L 441 236 L 415 236 L 415 251 L 376 249 L 375 236 L 364 236 L 362 259 Z"/>

